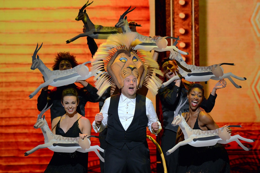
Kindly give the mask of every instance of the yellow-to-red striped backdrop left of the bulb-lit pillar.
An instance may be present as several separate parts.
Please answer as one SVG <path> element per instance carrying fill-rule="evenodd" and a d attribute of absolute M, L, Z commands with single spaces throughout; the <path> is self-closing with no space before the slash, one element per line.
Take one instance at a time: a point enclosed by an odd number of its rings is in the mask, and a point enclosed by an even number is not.
<path fill-rule="evenodd" d="M 91 2 L 91 1 L 89 1 Z M 40 149 L 25 157 L 23 153 L 44 143 L 40 129 L 34 129 L 37 114 L 37 98 L 40 92 L 28 96 L 42 82 L 38 69 L 32 71 L 31 55 L 36 44 L 43 42 L 38 52 L 40 59 L 51 69 L 57 52 L 70 51 L 78 63 L 92 59 L 86 37 L 66 44 L 66 40 L 82 33 L 82 21 L 76 21 L 78 10 L 85 0 L 1 0 L 0 20 L 0 172 L 43 172 L 53 154 L 49 149 Z M 149 36 L 149 1 L 95 0 L 86 11 L 94 24 L 114 26 L 130 5 L 136 9 L 127 15 L 143 27 L 137 28 Z M 104 40 L 96 40 L 99 45 Z M 88 80 L 93 84 L 92 79 Z M 86 116 L 93 122 L 99 112 L 98 103 L 86 104 Z M 50 125 L 50 112 L 46 119 Z M 95 134 L 92 130 L 93 135 Z M 154 135 L 151 135 L 155 138 Z M 92 138 L 91 145 L 99 145 Z M 151 154 L 156 150 L 151 148 Z M 99 159 L 90 152 L 89 170 L 99 172 Z M 154 157 L 155 158 L 155 157 Z M 156 159 L 156 158 L 155 158 Z M 156 162 L 153 159 L 152 162 Z"/>

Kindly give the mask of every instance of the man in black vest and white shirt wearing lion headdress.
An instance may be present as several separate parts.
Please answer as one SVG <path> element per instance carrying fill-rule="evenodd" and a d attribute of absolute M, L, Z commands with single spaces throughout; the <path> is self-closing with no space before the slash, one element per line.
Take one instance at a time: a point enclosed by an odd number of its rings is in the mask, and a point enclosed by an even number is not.
<path fill-rule="evenodd" d="M 136 92 L 145 85 L 156 94 L 161 80 L 155 74 L 162 74 L 149 52 L 133 50 L 141 43 L 135 36 L 136 33 L 112 35 L 93 57 L 93 72 L 103 71 L 95 83 L 98 94 L 102 96 L 111 85 L 121 90 L 121 94 L 105 100 L 92 123 L 95 132 L 107 127 L 106 173 L 151 172 L 146 127 L 153 134 L 161 130 L 151 100 Z"/>

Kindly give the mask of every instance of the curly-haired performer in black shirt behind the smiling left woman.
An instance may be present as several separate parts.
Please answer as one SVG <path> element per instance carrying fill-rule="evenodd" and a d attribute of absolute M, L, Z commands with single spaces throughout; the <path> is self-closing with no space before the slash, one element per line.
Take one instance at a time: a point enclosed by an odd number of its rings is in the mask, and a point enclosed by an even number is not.
<path fill-rule="evenodd" d="M 75 56 L 70 55 L 70 52 L 59 52 L 54 59 L 54 65 L 52 66 L 52 69 L 66 70 L 73 68 L 78 65 L 75 58 Z M 76 82 L 80 83 L 83 87 L 79 87 L 74 83 L 60 87 L 54 87 L 50 90 L 48 90 L 48 86 L 44 87 L 41 91 L 41 94 L 38 96 L 38 110 L 43 110 L 43 108 L 46 106 L 46 103 L 48 103 L 48 106 L 53 104 L 50 108 L 51 121 L 56 117 L 64 115 L 65 110 L 61 104 L 62 91 L 67 88 L 74 88 L 78 92 L 79 97 L 77 112 L 80 115 L 85 116 L 86 102 L 99 102 L 99 96 L 96 94 L 96 88 L 90 85 L 87 81 L 77 80 Z"/>

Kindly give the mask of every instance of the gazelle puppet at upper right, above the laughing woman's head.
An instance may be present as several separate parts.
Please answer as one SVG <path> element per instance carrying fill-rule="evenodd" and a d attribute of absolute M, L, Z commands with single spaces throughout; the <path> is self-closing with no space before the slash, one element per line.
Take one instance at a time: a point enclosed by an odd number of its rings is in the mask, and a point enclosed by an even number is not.
<path fill-rule="evenodd" d="M 176 45 L 178 42 L 175 41 L 174 45 Z M 242 88 L 240 85 L 237 85 L 235 81 L 231 78 L 234 77 L 235 79 L 238 80 L 246 80 L 247 78 L 245 77 L 239 77 L 234 75 L 233 73 L 224 73 L 224 69 L 221 67 L 221 65 L 235 65 L 234 63 L 219 63 L 219 64 L 214 64 L 210 66 L 196 66 L 196 65 L 188 65 L 183 59 L 178 51 L 171 51 L 169 59 L 175 59 L 176 63 L 179 68 L 179 75 L 176 75 L 169 79 L 167 82 L 164 82 L 162 84 L 162 88 L 165 86 L 169 85 L 172 81 L 176 79 L 185 79 L 190 82 L 207 82 L 209 79 L 213 80 L 220 80 L 222 78 L 227 78 L 231 81 L 231 83 L 236 87 L 236 88 Z"/>

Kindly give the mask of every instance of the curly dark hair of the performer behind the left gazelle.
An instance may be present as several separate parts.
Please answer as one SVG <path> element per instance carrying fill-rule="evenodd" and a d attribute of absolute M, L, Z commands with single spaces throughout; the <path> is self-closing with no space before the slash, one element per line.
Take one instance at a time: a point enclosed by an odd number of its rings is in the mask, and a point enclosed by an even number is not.
<path fill-rule="evenodd" d="M 76 57 L 74 55 L 70 55 L 70 52 L 58 52 L 54 59 L 54 65 L 52 66 L 52 70 L 58 70 L 60 62 L 63 60 L 70 61 L 72 68 L 78 65 L 76 61 Z"/>

